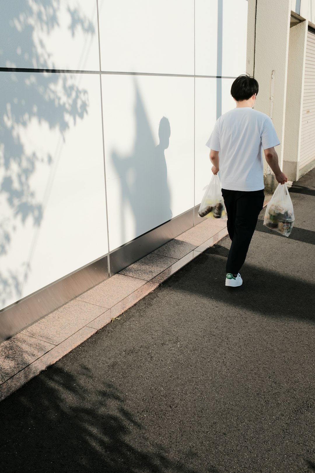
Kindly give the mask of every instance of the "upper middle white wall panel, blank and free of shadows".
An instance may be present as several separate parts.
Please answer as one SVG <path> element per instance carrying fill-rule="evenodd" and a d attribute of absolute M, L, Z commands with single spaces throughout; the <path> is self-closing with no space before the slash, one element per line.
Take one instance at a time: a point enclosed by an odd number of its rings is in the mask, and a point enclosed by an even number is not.
<path fill-rule="evenodd" d="M 99 0 L 102 70 L 194 74 L 194 0 Z"/>

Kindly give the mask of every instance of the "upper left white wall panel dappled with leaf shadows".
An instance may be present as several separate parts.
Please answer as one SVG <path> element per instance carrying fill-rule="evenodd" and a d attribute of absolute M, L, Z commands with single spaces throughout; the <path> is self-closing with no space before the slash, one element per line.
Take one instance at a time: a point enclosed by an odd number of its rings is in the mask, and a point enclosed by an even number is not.
<path fill-rule="evenodd" d="M 96 0 L 0 0 L 0 67 L 99 70 Z"/>

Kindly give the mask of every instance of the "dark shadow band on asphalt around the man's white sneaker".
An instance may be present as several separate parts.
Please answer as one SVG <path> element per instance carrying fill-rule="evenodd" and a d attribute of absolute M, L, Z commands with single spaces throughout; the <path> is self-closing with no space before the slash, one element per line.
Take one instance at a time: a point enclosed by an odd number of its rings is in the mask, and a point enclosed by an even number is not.
<path fill-rule="evenodd" d="M 228 304 L 234 312 L 248 309 L 266 317 L 315 322 L 315 284 L 290 277 L 287 271 L 281 272 L 281 268 L 271 261 L 268 270 L 245 263 L 243 286 L 226 288 L 222 275 L 228 254 L 229 250 L 224 246 L 209 248 L 194 260 L 194 264 L 172 276 L 172 281 L 176 281 L 172 288 Z M 183 272 L 192 275 L 184 278 Z"/>

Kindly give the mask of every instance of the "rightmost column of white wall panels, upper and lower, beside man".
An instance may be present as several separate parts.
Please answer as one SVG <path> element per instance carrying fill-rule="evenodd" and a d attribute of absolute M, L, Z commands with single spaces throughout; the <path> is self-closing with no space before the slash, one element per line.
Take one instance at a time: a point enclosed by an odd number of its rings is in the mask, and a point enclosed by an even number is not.
<path fill-rule="evenodd" d="M 195 205 L 209 183 L 211 163 L 205 146 L 217 118 L 235 107 L 230 95 L 234 78 L 246 73 L 246 0 L 196 0 Z"/>

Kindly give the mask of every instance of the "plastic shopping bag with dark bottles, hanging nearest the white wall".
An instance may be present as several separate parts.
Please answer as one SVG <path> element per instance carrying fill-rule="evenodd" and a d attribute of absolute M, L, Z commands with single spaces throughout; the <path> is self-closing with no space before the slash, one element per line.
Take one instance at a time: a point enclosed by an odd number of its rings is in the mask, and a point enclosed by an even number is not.
<path fill-rule="evenodd" d="M 213 174 L 201 201 L 198 214 L 200 217 L 221 219 L 225 215 L 224 201 L 221 193 L 221 182 L 217 174 Z"/>

